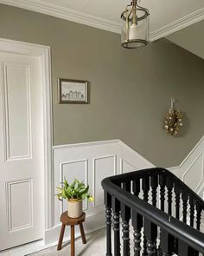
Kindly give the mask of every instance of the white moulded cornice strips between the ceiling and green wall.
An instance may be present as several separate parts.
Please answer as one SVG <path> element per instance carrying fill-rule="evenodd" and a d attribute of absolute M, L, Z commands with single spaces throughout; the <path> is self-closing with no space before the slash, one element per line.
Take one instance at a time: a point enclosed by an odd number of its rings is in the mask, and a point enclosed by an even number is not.
<path fill-rule="evenodd" d="M 85 24 L 100 30 L 107 30 L 117 34 L 121 33 L 120 23 L 114 23 L 98 16 L 88 15 L 80 11 L 61 7 L 54 3 L 44 2 L 43 0 L 0 0 L 0 3 L 16 6 L 26 10 L 33 10 L 49 16 L 59 17 L 74 23 Z M 178 19 L 173 23 L 169 23 L 158 30 L 151 31 L 150 41 L 153 42 L 161 37 L 169 36 L 170 34 L 178 30 L 182 30 L 203 19 L 204 8 L 196 10 L 187 16 L 183 16 L 181 19 Z"/>

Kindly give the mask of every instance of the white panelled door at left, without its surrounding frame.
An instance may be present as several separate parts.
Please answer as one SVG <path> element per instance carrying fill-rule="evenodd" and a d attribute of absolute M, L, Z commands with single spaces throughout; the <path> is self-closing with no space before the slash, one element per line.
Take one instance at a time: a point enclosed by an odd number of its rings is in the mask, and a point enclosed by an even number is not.
<path fill-rule="evenodd" d="M 42 238 L 40 63 L 0 52 L 0 251 Z"/>

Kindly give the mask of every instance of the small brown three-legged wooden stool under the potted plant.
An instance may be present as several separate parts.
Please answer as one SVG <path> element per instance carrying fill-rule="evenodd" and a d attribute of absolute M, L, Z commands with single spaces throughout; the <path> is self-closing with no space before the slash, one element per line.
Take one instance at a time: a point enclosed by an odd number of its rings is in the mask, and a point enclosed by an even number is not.
<path fill-rule="evenodd" d="M 75 237 L 74 237 L 74 226 L 75 225 L 80 225 L 80 234 L 81 234 L 81 239 L 83 244 L 86 244 L 86 237 L 85 237 L 85 232 L 84 232 L 84 227 L 83 227 L 83 222 L 85 221 L 86 213 L 83 213 L 79 218 L 73 219 L 69 218 L 67 215 L 67 212 L 61 214 L 61 235 L 59 238 L 57 250 L 61 250 L 61 245 L 65 233 L 65 226 L 71 226 L 71 256 L 75 256 Z"/>

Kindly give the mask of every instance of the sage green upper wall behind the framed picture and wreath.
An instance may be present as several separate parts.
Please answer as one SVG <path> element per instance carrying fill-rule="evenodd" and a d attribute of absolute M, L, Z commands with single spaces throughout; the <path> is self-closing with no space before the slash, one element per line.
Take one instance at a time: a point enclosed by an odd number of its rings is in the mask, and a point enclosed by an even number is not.
<path fill-rule="evenodd" d="M 123 49 L 120 36 L 0 4 L 0 37 L 52 48 L 54 145 L 120 139 L 172 167 L 204 131 L 204 61 L 167 40 Z M 57 103 L 57 78 L 90 81 L 91 103 Z M 178 137 L 163 131 L 170 97 L 185 115 Z"/>

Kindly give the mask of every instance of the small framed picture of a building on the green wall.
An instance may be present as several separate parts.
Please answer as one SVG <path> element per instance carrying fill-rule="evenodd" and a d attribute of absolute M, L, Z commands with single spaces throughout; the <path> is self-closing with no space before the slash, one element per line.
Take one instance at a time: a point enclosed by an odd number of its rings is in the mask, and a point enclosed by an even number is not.
<path fill-rule="evenodd" d="M 88 82 L 59 78 L 59 103 L 88 103 Z"/>

